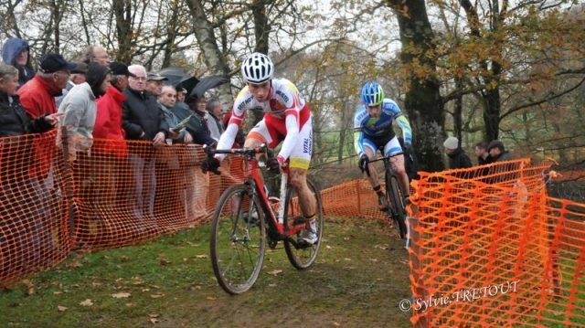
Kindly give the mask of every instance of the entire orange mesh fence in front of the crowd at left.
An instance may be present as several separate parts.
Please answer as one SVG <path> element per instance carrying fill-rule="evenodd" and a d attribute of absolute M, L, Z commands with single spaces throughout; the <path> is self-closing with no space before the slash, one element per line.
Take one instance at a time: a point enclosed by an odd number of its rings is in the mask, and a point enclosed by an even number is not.
<path fill-rule="evenodd" d="M 243 178 L 239 158 L 223 162 L 223 175 L 203 175 L 200 145 L 96 139 L 90 153 L 76 153 L 56 138 L 0 138 L 0 286 L 57 265 L 72 249 L 195 227 Z"/>

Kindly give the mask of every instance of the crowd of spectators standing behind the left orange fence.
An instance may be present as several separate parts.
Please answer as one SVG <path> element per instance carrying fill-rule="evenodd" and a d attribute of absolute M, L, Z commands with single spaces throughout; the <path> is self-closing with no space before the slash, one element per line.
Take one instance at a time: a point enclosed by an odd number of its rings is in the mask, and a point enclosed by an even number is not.
<path fill-rule="evenodd" d="M 14 166 L 11 163 L 30 163 L 28 171 L 32 171 L 35 159 L 38 163 L 48 163 L 48 167 L 26 176 L 2 177 L 0 211 L 3 213 L 26 212 L 23 208 L 27 204 L 20 204 L 24 200 L 16 199 L 23 194 L 23 188 L 34 194 L 31 198 L 37 199 L 37 212 L 32 213 L 37 217 L 36 223 L 29 231 L 23 231 L 23 243 L 30 244 L 30 240 L 34 240 L 27 234 L 50 235 L 43 233 L 48 228 L 43 221 L 43 217 L 47 217 L 43 204 L 56 195 L 54 184 L 59 169 L 48 151 L 51 147 L 62 150 L 67 147 L 63 155 L 72 168 L 73 181 L 80 184 L 77 190 L 89 195 L 94 208 L 108 206 L 99 197 L 103 195 L 101 191 L 115 194 L 118 204 L 113 206 L 126 206 L 133 217 L 144 223 L 137 227 L 139 230 L 156 224 L 156 189 L 168 187 L 157 185 L 159 165 L 175 170 L 172 183 L 184 184 L 181 197 L 186 204 L 186 216 L 195 219 L 207 216 L 210 177 L 196 169 L 194 158 L 165 150 L 172 144 L 189 147 L 217 143 L 225 122 L 222 121 L 225 111 L 219 101 L 207 101 L 205 94 L 192 93 L 181 83 L 170 85 L 167 78 L 147 71 L 142 65 L 126 66 L 112 61 L 107 51 L 99 46 L 87 48 L 78 60 L 68 61 L 56 53 L 34 60 L 29 56 L 27 40 L 10 37 L 2 47 L 2 59 L 0 154 L 20 156 L 18 160 L 13 156 L 12 162 L 3 161 L 3 173 L 15 170 L 10 168 Z M 53 129 L 57 129 L 57 137 L 51 141 L 52 145 L 33 144 L 24 149 L 14 146 L 29 140 L 30 133 Z M 14 152 L 10 151 L 10 145 L 15 147 Z M 186 149 L 195 157 L 195 148 Z M 186 161 L 193 163 L 187 165 L 186 172 L 179 170 L 178 164 Z M 132 176 L 130 188 L 121 185 L 124 172 Z M 165 177 L 165 183 L 168 182 L 169 178 Z M 10 195 L 16 198 L 5 197 Z M 15 206 L 23 208 L 15 210 Z M 18 217 L 1 220 L 0 228 L 8 227 L 10 220 L 18 220 Z M 26 251 L 29 254 L 38 252 L 46 247 L 42 242 L 48 241 L 34 240 L 35 249 Z M 18 241 L 0 236 L 1 249 L 10 249 L 11 243 Z"/>

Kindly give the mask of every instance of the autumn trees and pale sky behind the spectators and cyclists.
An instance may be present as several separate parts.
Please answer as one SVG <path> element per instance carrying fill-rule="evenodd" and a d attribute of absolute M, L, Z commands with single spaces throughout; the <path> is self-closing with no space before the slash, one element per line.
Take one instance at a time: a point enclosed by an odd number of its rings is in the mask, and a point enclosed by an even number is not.
<path fill-rule="evenodd" d="M 474 143 L 500 139 L 515 157 L 585 166 L 580 1 L 0 0 L 0 17 L 0 42 L 27 39 L 35 65 L 100 45 L 149 70 L 229 76 L 216 90 L 228 107 L 241 59 L 268 53 L 314 112 L 315 167 L 355 161 L 367 80 L 406 112 L 420 169 L 444 168 L 449 135 L 472 158 Z"/>

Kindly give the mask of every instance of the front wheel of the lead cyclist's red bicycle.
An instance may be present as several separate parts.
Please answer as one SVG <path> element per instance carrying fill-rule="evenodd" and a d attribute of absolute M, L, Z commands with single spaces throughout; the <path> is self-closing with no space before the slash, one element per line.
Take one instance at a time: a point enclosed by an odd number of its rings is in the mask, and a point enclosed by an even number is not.
<path fill-rule="evenodd" d="M 211 264 L 219 286 L 230 294 L 250 290 L 266 248 L 261 206 L 249 185 L 232 185 L 219 198 L 211 226 Z"/>

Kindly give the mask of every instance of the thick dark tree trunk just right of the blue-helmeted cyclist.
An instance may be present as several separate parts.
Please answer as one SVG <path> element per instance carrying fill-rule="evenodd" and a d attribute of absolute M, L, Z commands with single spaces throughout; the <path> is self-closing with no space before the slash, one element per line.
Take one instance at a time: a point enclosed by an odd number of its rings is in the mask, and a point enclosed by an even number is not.
<path fill-rule="evenodd" d="M 424 0 L 388 0 L 399 19 L 400 41 L 403 48 L 401 60 L 409 65 L 413 61 L 436 70 L 434 57 L 426 56 L 435 45 L 433 32 Z M 407 45 L 413 45 L 414 51 Z M 409 48 L 411 48 L 409 46 Z M 406 94 L 405 107 L 413 130 L 414 148 L 420 159 L 420 169 L 440 171 L 444 168 L 441 143 L 444 138 L 445 121 L 439 82 L 432 76 L 420 79 L 409 77 L 410 88 Z"/>

